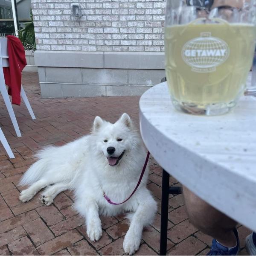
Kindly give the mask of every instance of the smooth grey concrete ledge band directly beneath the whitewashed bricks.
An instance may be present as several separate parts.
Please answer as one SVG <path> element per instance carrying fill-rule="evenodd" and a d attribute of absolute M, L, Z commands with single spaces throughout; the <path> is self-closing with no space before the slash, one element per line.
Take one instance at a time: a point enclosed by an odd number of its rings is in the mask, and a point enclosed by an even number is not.
<path fill-rule="evenodd" d="M 85 67 L 115 69 L 164 69 L 163 52 L 67 52 L 34 53 L 38 67 Z"/>

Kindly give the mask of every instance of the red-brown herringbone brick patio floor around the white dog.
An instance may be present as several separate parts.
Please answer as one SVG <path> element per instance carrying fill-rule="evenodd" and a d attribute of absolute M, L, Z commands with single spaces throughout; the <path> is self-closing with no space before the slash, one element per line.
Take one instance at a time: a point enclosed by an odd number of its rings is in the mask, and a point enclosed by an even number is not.
<path fill-rule="evenodd" d="M 42 99 L 37 73 L 23 73 L 23 86 L 37 119 L 32 120 L 26 107 L 14 105 L 22 133 L 17 138 L 6 107 L 0 98 L 0 125 L 15 154 L 10 160 L 0 145 L 0 255 L 122 255 L 122 243 L 128 230 L 124 216 L 103 217 L 103 236 L 91 242 L 84 221 L 71 208 L 70 191 L 59 194 L 54 204 L 43 206 L 38 195 L 22 204 L 17 186 L 23 172 L 35 162 L 34 153 L 49 145 L 63 145 L 87 134 L 96 115 L 111 122 L 128 113 L 138 124 L 138 96 L 80 99 Z M 152 226 L 143 232 L 136 255 L 157 255 L 160 239 L 161 168 L 150 159 L 148 188 L 158 202 Z M 171 177 L 170 184 L 177 184 Z M 205 255 L 211 238 L 188 219 L 182 195 L 170 196 L 168 255 Z M 246 255 L 244 238 L 250 231 L 240 226 L 241 253 Z"/>

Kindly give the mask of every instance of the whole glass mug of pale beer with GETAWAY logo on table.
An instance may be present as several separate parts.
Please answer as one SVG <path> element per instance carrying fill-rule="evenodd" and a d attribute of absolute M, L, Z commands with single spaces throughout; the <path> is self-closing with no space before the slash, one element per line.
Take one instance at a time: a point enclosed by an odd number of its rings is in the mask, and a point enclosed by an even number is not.
<path fill-rule="evenodd" d="M 167 0 L 166 78 L 176 109 L 220 115 L 246 92 L 256 45 L 256 0 Z"/>

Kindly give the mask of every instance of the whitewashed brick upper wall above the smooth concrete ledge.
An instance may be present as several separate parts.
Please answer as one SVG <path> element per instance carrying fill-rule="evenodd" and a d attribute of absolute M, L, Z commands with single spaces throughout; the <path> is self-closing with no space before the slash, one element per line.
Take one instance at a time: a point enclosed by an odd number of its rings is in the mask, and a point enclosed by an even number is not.
<path fill-rule="evenodd" d="M 81 5 L 82 17 L 71 15 Z M 163 51 L 165 0 L 32 0 L 39 50 Z"/>

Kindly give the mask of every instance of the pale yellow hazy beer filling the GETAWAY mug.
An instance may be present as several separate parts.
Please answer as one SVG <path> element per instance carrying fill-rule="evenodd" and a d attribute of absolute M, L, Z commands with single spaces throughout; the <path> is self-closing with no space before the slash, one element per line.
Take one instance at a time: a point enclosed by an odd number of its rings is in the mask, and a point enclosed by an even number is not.
<path fill-rule="evenodd" d="M 166 76 L 173 103 L 185 110 L 232 107 L 245 90 L 255 42 L 256 27 L 249 23 L 195 20 L 166 27 Z"/>

